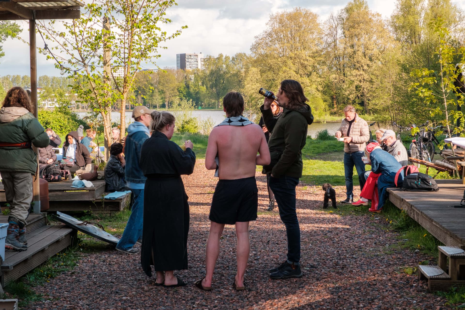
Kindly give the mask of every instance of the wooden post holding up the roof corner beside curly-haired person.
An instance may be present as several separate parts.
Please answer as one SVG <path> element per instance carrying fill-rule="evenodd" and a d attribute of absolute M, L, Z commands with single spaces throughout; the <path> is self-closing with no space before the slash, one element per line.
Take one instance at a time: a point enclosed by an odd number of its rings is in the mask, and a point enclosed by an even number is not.
<path fill-rule="evenodd" d="M 34 107 L 34 116 L 37 117 L 37 51 L 35 44 L 35 20 L 29 20 L 29 59 L 31 63 L 31 103 Z M 33 148 L 37 157 L 36 176 L 33 177 L 33 210 L 40 212 L 40 185 L 39 185 L 39 154 L 37 148 Z"/>

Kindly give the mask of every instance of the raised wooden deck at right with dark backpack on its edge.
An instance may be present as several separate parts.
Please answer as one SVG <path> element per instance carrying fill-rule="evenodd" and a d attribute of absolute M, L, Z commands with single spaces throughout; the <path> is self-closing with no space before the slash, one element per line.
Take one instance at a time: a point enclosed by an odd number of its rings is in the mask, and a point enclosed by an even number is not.
<path fill-rule="evenodd" d="M 461 180 L 436 180 L 439 191 L 401 191 L 390 188 L 389 200 L 440 242 L 465 249 L 465 208 L 454 208 L 464 198 Z"/>

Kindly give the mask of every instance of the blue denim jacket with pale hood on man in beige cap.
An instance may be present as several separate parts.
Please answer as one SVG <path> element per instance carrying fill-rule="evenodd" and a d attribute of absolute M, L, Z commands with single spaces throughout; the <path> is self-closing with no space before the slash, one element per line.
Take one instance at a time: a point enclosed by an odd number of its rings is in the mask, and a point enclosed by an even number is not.
<path fill-rule="evenodd" d="M 129 188 L 131 183 L 144 184 L 146 177 L 140 168 L 140 148 L 145 140 L 149 138 L 148 128 L 140 123 L 134 122 L 127 128 L 127 138 L 124 147 L 126 167 L 124 178 Z"/>

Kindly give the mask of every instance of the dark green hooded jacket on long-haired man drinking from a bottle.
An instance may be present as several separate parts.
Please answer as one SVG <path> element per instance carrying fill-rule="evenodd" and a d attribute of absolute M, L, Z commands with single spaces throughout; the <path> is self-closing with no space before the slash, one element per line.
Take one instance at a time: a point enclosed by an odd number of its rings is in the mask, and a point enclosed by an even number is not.
<path fill-rule="evenodd" d="M 271 132 L 268 140 L 270 165 L 263 166 L 263 174 L 271 173 L 275 178 L 284 176 L 302 177 L 302 149 L 307 140 L 308 125 L 313 123 L 312 108 L 305 104 L 299 110 L 284 109 L 278 118 L 271 109 L 260 106 L 266 128 Z"/>

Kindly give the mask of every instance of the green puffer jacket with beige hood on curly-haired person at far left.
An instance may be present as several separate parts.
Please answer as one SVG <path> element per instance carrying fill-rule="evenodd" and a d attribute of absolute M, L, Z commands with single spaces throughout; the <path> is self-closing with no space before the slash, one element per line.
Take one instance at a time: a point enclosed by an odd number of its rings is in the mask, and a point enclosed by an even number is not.
<path fill-rule="evenodd" d="M 35 147 L 50 144 L 44 127 L 32 113 L 20 107 L 0 109 L 0 144 L 32 142 Z M 37 157 L 31 147 L 0 147 L 0 171 L 37 172 Z"/>

